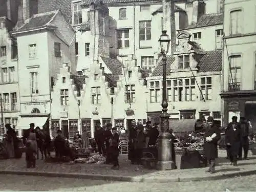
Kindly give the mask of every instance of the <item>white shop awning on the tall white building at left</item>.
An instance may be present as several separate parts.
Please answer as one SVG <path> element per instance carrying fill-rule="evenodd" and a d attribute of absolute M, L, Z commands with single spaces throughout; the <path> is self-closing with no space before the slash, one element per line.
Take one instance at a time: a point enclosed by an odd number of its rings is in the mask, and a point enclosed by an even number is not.
<path fill-rule="evenodd" d="M 40 129 L 42 129 L 42 126 L 46 124 L 47 119 L 48 117 L 20 117 L 16 129 L 29 129 L 30 123 L 35 123 L 35 127 L 39 126 Z"/>

